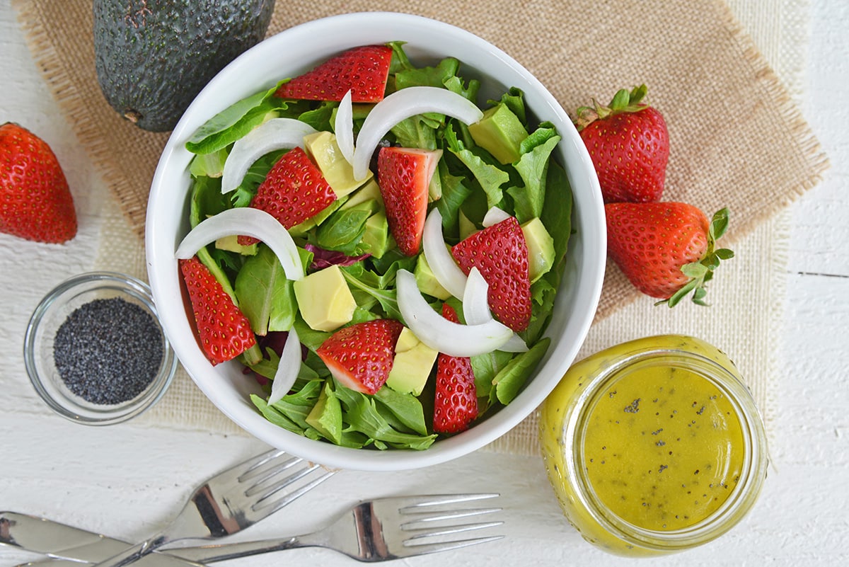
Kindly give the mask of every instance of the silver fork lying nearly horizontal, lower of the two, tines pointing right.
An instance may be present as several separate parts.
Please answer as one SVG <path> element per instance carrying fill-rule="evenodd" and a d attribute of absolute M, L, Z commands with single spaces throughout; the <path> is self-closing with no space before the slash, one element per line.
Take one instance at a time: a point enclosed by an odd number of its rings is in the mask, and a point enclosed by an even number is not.
<path fill-rule="evenodd" d="M 326 547 L 364 562 L 386 561 L 469 547 L 502 539 L 480 536 L 458 539 L 458 534 L 503 525 L 503 521 L 461 522 L 500 512 L 501 508 L 458 508 L 463 502 L 498 497 L 498 494 L 453 494 L 386 497 L 358 502 L 318 531 L 302 536 L 258 542 L 227 543 L 201 547 L 175 547 L 166 553 L 183 559 L 213 563 L 294 549 Z"/>

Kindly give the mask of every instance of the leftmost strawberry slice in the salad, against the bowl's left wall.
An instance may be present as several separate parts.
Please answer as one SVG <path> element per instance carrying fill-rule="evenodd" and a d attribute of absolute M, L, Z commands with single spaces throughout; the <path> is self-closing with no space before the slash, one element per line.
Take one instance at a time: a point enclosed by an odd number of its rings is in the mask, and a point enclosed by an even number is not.
<path fill-rule="evenodd" d="M 256 345 L 248 318 L 197 256 L 181 260 L 180 272 L 188 289 L 200 345 L 213 365 L 227 362 Z"/>

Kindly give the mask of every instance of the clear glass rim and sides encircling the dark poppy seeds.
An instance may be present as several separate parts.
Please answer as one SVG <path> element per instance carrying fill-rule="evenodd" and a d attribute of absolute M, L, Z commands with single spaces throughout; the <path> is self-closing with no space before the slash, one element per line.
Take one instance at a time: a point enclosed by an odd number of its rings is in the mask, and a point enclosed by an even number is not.
<path fill-rule="evenodd" d="M 88 291 L 93 291 L 100 287 L 109 287 L 109 289 L 119 292 L 120 295 L 115 296 L 132 296 L 133 299 L 141 302 L 143 308 L 155 319 L 162 337 L 162 364 L 160 372 L 156 373 L 155 377 L 151 379 L 147 388 L 132 400 L 116 404 L 115 406 L 103 406 L 99 408 L 94 415 L 76 412 L 72 406 L 64 404 L 52 396 L 43 384 L 45 377 L 38 371 L 38 364 L 36 362 L 36 354 L 39 350 L 39 345 L 37 345 L 38 330 L 42 325 L 44 317 L 53 306 L 58 305 L 57 301 L 64 295 L 87 283 L 103 284 L 103 286 L 95 286 Z M 65 279 L 51 289 L 38 302 L 36 309 L 32 312 L 30 320 L 26 325 L 23 351 L 25 370 L 38 396 L 42 398 L 54 413 L 76 424 L 112 425 L 141 415 L 150 407 L 153 407 L 157 401 L 160 401 L 162 396 L 165 396 L 177 372 L 177 356 L 175 356 L 171 348 L 165 328 L 159 321 L 149 285 L 138 278 L 121 272 L 83 272 Z"/>

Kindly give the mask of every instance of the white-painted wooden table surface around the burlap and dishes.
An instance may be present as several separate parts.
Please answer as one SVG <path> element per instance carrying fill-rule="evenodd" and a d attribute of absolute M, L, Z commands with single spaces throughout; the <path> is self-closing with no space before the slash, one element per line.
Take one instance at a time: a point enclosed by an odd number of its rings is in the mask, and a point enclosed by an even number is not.
<path fill-rule="evenodd" d="M 784 368 L 774 381 L 779 407 L 774 466 L 760 502 L 734 531 L 656 564 L 849 564 L 849 111 L 843 102 L 849 82 L 849 3 L 813 0 L 811 20 L 802 110 L 829 153 L 832 168 L 824 182 L 791 205 L 784 333 L 779 345 L 764 345 L 781 357 Z M 24 47 L 8 0 L 0 0 L 0 77 L 0 122 L 24 116 L 48 129 L 57 153 L 76 164 L 65 166 L 69 177 L 96 182 Z M 18 89 L 14 93 L 3 92 L 10 88 L 9 81 Z M 85 196 L 78 199 L 88 210 Z M 21 244 L 20 257 L 0 258 L 0 373 L 20 373 L 25 379 L 20 345 L 26 319 L 55 283 L 91 269 L 95 229 L 93 219 L 83 216 L 81 234 L 63 259 L 65 273 L 51 269 L 51 261 L 37 246 Z M 29 272 L 13 276 L 9 267 Z M 261 448 L 258 441 L 203 431 L 175 434 L 133 424 L 98 429 L 46 414 L 0 414 L 0 509 L 45 515 L 135 540 L 165 525 L 194 484 L 222 461 L 234 463 Z M 582 542 L 559 513 L 540 459 L 487 452 L 405 474 L 346 471 L 329 480 L 320 496 L 302 498 L 249 535 L 301 532 L 361 497 L 438 492 L 447 486 L 452 491 L 501 492 L 506 508 L 503 532 L 508 537 L 464 552 L 397 563 L 633 563 Z M 0 549 L 0 567 L 34 559 L 38 557 Z M 354 564 L 324 550 L 296 550 L 276 559 L 293 565 Z M 265 565 L 270 560 L 232 564 Z"/>

